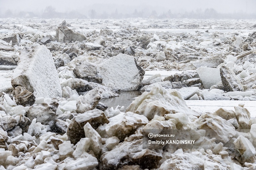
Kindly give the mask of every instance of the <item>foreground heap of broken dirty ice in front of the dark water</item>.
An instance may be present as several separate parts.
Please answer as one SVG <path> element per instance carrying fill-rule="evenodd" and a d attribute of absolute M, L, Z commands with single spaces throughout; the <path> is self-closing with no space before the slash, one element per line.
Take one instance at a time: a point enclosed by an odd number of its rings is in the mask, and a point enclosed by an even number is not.
<path fill-rule="evenodd" d="M 80 97 L 87 95 L 85 100 L 89 101 L 98 90 Z M 1 168 L 175 169 L 178 160 L 182 167 L 255 168 L 251 162 L 256 153 L 256 121 L 243 105 L 235 111 L 220 108 L 198 114 L 186 106 L 177 90 L 156 85 L 136 98 L 126 112 L 108 118 L 95 108 L 97 103 L 78 114 L 78 96 L 69 101 L 36 98 L 35 104 L 23 107 L 16 105 L 14 96 L 3 94 Z M 195 144 L 181 149 L 168 144 L 144 149 L 145 129 L 190 129 L 187 135 Z"/>

